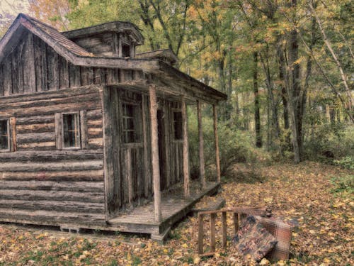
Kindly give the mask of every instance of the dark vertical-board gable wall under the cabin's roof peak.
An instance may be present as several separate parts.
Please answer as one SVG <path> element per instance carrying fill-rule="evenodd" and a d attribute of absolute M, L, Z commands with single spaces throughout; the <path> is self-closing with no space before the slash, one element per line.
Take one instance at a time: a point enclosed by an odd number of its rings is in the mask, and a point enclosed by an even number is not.
<path fill-rule="evenodd" d="M 0 96 L 140 79 L 142 72 L 72 65 L 32 33 L 0 63 Z"/>

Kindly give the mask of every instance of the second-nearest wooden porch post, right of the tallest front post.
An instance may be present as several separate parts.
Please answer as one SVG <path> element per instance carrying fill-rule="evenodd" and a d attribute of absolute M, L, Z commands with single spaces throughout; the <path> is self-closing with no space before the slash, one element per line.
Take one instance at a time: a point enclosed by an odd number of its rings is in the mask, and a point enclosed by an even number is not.
<path fill-rule="evenodd" d="M 188 153 L 188 116 L 187 106 L 185 105 L 185 97 L 182 95 L 182 126 L 183 126 L 183 184 L 184 196 L 188 197 L 189 194 L 189 153 Z"/>

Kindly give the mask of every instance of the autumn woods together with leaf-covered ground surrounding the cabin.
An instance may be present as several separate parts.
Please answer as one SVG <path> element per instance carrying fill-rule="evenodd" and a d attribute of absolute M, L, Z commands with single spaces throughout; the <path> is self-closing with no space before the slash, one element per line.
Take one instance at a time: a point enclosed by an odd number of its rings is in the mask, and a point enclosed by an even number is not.
<path fill-rule="evenodd" d="M 13 13 L 1 13 L 0 37 L 24 12 L 23 4 L 4 1 Z M 228 96 L 218 112 L 227 206 L 261 202 L 299 221 L 290 260 L 275 265 L 352 265 L 353 1 L 19 2 L 60 31 L 131 21 L 145 38 L 138 52 L 171 49 L 179 70 Z M 205 105 L 202 112 L 205 166 L 212 175 L 212 109 Z M 197 179 L 196 107 L 188 106 L 188 113 L 190 174 Z M 183 221 L 164 246 L 119 233 L 86 240 L 0 224 L 0 265 L 256 265 L 232 249 L 198 257 L 197 222 Z"/>

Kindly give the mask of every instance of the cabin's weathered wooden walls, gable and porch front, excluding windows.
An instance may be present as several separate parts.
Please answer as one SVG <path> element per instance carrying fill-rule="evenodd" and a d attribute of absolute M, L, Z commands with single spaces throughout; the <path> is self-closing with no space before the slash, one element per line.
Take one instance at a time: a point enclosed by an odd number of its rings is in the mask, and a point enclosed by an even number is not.
<path fill-rule="evenodd" d="M 11 152 L 0 153 L 0 220 L 101 223 L 107 207 L 113 213 L 152 199 L 147 91 L 101 87 L 134 79 L 142 72 L 72 65 L 32 33 L 23 35 L 0 63 L 0 118 L 11 125 Z M 138 144 L 122 143 L 122 101 L 139 104 Z M 159 98 L 159 109 L 165 190 L 183 172 L 182 142 L 173 135 L 173 110 L 181 106 Z M 62 150 L 58 119 L 72 112 L 81 120 L 81 149 Z"/>

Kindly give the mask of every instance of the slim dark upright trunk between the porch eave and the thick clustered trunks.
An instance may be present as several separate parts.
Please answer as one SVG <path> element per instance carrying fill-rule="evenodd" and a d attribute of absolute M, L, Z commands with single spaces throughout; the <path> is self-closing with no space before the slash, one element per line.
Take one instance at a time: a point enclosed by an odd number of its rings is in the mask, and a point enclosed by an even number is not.
<path fill-rule="evenodd" d="M 254 94 L 254 127 L 256 130 L 256 147 L 262 147 L 261 113 L 258 94 L 258 52 L 253 52 L 253 94 Z"/>

